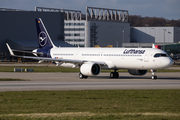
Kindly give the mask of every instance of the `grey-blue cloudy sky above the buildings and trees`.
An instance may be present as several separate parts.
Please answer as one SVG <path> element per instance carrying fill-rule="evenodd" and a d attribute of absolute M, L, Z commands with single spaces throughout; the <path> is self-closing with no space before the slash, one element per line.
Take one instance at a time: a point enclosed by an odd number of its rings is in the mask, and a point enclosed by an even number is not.
<path fill-rule="evenodd" d="M 0 0 L 0 8 L 35 10 L 35 7 L 81 10 L 86 6 L 128 10 L 130 15 L 180 19 L 180 0 Z"/>

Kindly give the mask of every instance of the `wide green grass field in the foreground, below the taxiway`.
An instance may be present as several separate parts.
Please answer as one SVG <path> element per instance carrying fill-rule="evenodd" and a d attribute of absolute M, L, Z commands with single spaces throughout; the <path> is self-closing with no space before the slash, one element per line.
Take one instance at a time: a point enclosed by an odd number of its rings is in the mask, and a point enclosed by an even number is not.
<path fill-rule="evenodd" d="M 0 119 L 180 119 L 180 90 L 0 92 Z"/>

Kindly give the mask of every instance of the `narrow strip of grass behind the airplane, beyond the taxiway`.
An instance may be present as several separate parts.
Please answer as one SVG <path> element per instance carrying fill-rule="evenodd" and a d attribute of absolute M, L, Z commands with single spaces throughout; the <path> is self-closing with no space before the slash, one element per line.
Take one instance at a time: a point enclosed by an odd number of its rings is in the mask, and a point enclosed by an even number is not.
<path fill-rule="evenodd" d="M 65 67 L 46 67 L 46 66 L 0 66 L 0 72 L 14 72 L 14 68 L 22 69 L 34 69 L 34 72 L 79 72 L 77 68 L 65 68 Z M 101 72 L 112 72 L 113 70 L 102 70 Z M 126 69 L 120 69 L 118 72 L 127 72 Z M 150 71 L 148 71 L 150 72 Z M 180 70 L 157 70 L 157 72 L 180 72 Z"/>

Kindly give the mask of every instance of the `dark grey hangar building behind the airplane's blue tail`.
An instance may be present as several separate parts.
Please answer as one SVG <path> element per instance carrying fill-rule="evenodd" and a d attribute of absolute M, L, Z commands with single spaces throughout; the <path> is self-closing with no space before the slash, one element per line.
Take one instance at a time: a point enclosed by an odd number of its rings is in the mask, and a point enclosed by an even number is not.
<path fill-rule="evenodd" d="M 0 9 L 0 59 L 9 58 L 6 42 L 12 49 L 33 50 L 38 47 L 35 18 L 42 18 L 54 44 L 64 42 L 64 14 L 61 12 L 35 12 Z"/>

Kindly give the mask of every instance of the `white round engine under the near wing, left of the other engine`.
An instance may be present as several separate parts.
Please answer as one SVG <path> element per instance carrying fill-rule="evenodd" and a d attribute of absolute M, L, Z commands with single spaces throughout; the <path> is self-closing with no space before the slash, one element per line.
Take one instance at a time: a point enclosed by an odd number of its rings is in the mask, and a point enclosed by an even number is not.
<path fill-rule="evenodd" d="M 83 75 L 94 76 L 100 73 L 101 67 L 97 63 L 85 63 L 81 65 L 80 71 Z"/>

